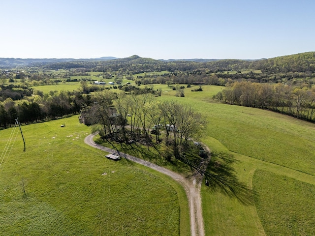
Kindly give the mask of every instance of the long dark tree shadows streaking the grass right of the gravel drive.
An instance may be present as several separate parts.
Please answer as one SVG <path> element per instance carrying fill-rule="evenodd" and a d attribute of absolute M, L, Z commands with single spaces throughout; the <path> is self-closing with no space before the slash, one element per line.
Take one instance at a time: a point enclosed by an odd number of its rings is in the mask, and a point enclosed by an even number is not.
<path fill-rule="evenodd" d="M 229 197 L 237 198 L 244 205 L 253 205 L 252 190 L 235 175 L 232 167 L 237 160 L 228 153 L 212 153 L 204 173 L 209 190 L 221 191 Z"/>

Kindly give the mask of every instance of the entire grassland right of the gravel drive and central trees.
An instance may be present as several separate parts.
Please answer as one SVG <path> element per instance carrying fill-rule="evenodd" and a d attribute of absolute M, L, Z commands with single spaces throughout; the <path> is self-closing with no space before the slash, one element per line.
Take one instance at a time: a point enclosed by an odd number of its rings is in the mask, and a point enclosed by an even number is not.
<path fill-rule="evenodd" d="M 210 91 L 203 88 L 173 99 L 188 103 L 207 117 L 209 124 L 201 141 L 212 151 L 232 154 L 237 160 L 233 167 L 238 178 L 254 187 L 249 196 L 236 192 L 237 197 L 230 197 L 203 185 L 206 235 L 313 235 L 315 124 L 270 111 L 212 103 Z M 291 183 L 284 185 L 281 179 Z M 273 192 L 269 194 L 270 188 Z M 244 197 L 250 200 L 247 204 L 240 201 Z M 306 203 L 308 210 L 304 211 Z M 273 219 L 269 220 L 271 206 Z"/>

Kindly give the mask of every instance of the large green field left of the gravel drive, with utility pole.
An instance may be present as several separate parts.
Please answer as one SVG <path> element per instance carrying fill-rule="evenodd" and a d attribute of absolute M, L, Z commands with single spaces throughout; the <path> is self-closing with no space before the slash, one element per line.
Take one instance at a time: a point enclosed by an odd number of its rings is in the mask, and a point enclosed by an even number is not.
<path fill-rule="evenodd" d="M 148 168 L 104 158 L 84 144 L 90 129 L 76 116 L 22 130 L 26 152 L 16 129 L 0 160 L 1 235 L 189 235 L 184 190 Z M 0 131 L 1 151 L 11 131 Z"/>

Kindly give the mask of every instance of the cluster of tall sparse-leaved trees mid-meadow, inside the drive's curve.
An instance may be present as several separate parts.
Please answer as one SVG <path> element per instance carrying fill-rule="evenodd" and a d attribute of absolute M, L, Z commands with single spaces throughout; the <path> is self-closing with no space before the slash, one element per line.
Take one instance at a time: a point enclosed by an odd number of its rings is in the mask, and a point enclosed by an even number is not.
<path fill-rule="evenodd" d="M 153 133 L 158 143 L 163 132 L 165 143 L 172 147 L 177 159 L 185 156 L 189 142 L 199 139 L 206 125 L 205 118 L 190 106 L 177 101 L 161 102 L 150 93 L 114 95 L 111 91 L 102 91 L 93 95 L 92 100 L 95 103 L 85 112 L 97 117 L 94 131 L 103 139 L 140 141 L 148 145 Z"/>

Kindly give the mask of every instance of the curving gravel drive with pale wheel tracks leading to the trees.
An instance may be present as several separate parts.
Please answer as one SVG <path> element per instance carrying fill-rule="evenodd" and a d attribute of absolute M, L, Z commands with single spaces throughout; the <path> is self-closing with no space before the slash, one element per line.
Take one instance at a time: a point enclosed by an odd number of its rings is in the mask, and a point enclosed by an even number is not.
<path fill-rule="evenodd" d="M 168 169 L 160 167 L 156 164 L 153 164 L 149 161 L 142 160 L 135 156 L 128 155 L 126 153 L 119 152 L 117 150 L 106 148 L 101 145 L 96 144 L 93 141 L 94 134 L 88 135 L 84 142 L 94 148 L 98 148 L 100 150 L 112 153 L 114 155 L 119 155 L 124 157 L 130 161 L 139 163 L 141 165 L 150 167 L 158 172 L 161 172 L 167 176 L 172 177 L 176 181 L 178 181 L 184 187 L 187 198 L 189 201 L 189 214 L 190 214 L 190 232 L 191 236 L 205 236 L 204 233 L 204 225 L 203 225 L 203 218 L 202 218 L 202 208 L 201 208 L 201 196 L 200 196 L 200 188 L 201 188 L 201 180 L 195 177 L 186 178 L 182 175 L 179 175 L 175 172 L 172 172 Z"/>

